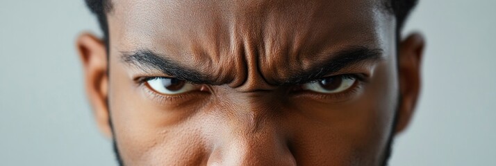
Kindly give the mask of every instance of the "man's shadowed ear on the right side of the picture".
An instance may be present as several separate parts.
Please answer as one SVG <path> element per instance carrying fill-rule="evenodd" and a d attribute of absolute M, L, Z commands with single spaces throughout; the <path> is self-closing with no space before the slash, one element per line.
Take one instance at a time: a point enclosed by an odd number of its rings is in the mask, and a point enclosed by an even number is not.
<path fill-rule="evenodd" d="M 395 134 L 406 129 L 410 122 L 421 86 L 421 64 L 424 37 L 418 33 L 409 35 L 399 44 L 399 93 L 400 103 Z"/>

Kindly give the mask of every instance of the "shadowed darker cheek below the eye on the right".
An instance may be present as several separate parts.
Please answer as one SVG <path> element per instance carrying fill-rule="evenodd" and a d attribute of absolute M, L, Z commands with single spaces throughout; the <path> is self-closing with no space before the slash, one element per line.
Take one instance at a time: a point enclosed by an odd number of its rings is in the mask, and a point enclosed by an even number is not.
<path fill-rule="evenodd" d="M 395 71 L 395 62 L 386 59 L 374 68 L 358 97 L 347 102 L 294 102 L 301 104 L 295 104 L 298 114 L 288 125 L 296 129 L 295 151 L 301 156 L 297 160 L 312 156 L 308 160 L 320 158 L 322 163 L 380 162 L 397 108 Z"/>

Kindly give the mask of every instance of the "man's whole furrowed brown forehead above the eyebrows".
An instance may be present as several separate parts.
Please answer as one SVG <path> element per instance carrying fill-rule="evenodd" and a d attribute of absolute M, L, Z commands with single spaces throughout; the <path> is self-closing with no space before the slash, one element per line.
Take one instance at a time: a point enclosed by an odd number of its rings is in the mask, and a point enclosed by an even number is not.
<path fill-rule="evenodd" d="M 394 22 L 384 8 L 381 0 L 115 0 L 110 49 L 146 48 L 217 75 L 229 70 L 215 64 L 233 62 L 284 75 L 273 71 L 310 68 L 326 58 L 317 55 L 346 46 L 387 49 Z M 231 71 L 243 73 L 238 70 Z"/>

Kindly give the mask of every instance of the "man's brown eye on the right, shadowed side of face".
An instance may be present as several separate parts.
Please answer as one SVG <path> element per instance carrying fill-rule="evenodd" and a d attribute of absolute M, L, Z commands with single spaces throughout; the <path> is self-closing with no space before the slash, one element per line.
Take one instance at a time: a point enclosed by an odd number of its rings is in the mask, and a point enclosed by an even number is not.
<path fill-rule="evenodd" d="M 356 77 L 351 75 L 335 75 L 303 84 L 303 89 L 318 93 L 340 93 L 351 88 L 355 82 Z"/>

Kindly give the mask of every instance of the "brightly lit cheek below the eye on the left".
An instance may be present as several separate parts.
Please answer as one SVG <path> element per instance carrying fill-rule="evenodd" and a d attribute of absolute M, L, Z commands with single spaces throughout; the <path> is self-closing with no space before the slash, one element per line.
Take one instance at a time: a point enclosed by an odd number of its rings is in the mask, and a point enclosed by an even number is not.
<path fill-rule="evenodd" d="M 199 165 L 206 150 L 201 132 L 195 128 L 201 125 L 195 123 L 198 120 L 190 119 L 195 107 L 164 107 L 150 100 L 124 66 L 117 63 L 110 66 L 110 118 L 124 163 Z"/>

